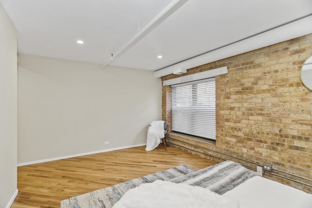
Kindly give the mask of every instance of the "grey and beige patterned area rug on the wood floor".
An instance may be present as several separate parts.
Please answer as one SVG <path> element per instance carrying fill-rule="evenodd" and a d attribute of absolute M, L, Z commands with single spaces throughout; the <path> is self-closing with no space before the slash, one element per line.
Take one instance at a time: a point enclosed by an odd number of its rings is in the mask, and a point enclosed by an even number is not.
<path fill-rule="evenodd" d="M 61 208 L 111 208 L 123 196 L 123 194 L 132 188 L 143 183 L 151 183 L 156 180 L 169 181 L 173 178 L 189 174 L 195 170 L 187 166 L 178 166 L 176 168 L 163 170 L 140 178 L 136 178 L 124 183 L 120 183 L 104 189 L 95 190 L 79 196 L 75 196 L 60 202 Z"/>

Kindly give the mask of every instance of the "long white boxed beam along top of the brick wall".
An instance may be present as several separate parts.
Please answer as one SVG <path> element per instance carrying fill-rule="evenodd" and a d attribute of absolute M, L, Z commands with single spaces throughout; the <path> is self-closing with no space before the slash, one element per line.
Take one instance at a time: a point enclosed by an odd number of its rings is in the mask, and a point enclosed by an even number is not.
<path fill-rule="evenodd" d="M 279 42 L 298 38 L 312 33 L 312 16 L 293 21 L 289 24 L 277 27 L 273 30 L 261 33 L 259 35 L 247 38 L 231 45 L 224 46 L 214 51 L 208 52 L 198 57 L 182 61 L 175 65 L 157 70 L 154 72 L 155 77 L 161 77 L 173 74 L 177 68 L 190 69 L 203 64 L 211 63 L 223 58 L 236 56 Z"/>

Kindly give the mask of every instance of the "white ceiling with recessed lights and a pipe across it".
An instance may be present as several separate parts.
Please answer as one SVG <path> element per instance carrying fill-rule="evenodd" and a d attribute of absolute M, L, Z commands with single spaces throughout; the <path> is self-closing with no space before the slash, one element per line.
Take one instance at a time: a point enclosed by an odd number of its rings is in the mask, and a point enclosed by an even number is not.
<path fill-rule="evenodd" d="M 0 3 L 18 30 L 19 53 L 153 71 L 312 15 L 312 0 L 0 0 Z M 141 32 L 168 5 L 175 3 L 146 33 L 137 36 L 138 22 Z M 78 39 L 85 43 L 79 45 Z M 120 52 L 123 48 L 126 50 Z M 114 60 L 111 54 L 117 55 Z M 158 55 L 163 58 L 158 59 Z"/>

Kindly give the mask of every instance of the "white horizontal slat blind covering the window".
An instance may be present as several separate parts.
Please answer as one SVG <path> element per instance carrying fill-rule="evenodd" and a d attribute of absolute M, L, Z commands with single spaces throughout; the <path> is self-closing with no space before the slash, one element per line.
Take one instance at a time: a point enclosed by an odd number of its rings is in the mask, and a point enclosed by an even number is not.
<path fill-rule="evenodd" d="M 171 87 L 172 130 L 215 140 L 215 77 Z"/>

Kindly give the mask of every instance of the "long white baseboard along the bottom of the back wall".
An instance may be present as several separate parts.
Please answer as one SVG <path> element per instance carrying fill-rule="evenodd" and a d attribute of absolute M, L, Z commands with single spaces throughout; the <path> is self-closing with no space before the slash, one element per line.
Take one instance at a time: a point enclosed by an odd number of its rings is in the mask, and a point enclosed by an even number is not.
<path fill-rule="evenodd" d="M 31 161 L 31 162 L 26 162 L 26 163 L 18 163 L 18 167 L 37 164 L 37 163 L 50 162 L 50 161 L 55 161 L 55 160 L 61 160 L 61 159 L 67 159 L 67 158 L 71 158 L 71 157 L 79 157 L 79 156 L 84 156 L 84 155 L 88 155 L 88 154 L 96 154 L 96 153 L 101 153 L 101 152 L 106 152 L 106 151 L 114 151 L 114 150 L 122 150 L 122 149 L 133 148 L 133 147 L 140 147 L 140 146 L 144 146 L 144 145 L 146 145 L 146 143 L 145 144 L 132 145 L 132 146 L 126 146 L 126 147 L 112 148 L 112 149 L 107 149 L 107 150 L 90 151 L 90 152 L 72 154 L 72 155 L 67 155 L 67 156 L 62 156 L 62 157 L 54 157 L 54 158 L 49 158 L 49 159 L 44 159 L 44 160 L 36 160 L 36 161 Z"/>

